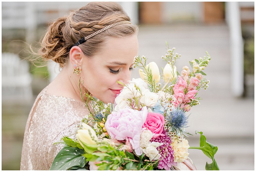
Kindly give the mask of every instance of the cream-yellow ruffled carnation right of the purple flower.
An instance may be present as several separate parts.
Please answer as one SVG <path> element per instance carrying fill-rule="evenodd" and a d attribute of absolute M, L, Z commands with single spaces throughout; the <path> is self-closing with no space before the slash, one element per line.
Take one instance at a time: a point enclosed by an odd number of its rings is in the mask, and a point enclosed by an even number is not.
<path fill-rule="evenodd" d="M 172 149 L 174 151 L 174 162 L 183 162 L 188 158 L 188 140 L 182 138 L 181 141 L 174 140 L 172 142 Z"/>

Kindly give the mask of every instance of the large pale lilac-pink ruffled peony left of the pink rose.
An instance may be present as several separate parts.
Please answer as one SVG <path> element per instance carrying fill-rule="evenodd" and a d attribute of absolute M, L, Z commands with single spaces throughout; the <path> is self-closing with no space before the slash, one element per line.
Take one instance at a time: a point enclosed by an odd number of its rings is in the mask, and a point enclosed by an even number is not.
<path fill-rule="evenodd" d="M 120 109 L 108 115 L 105 127 L 109 136 L 116 140 L 129 140 L 137 155 L 141 155 L 140 150 L 140 131 L 146 121 L 148 114 L 147 107 L 142 111 L 130 108 Z"/>

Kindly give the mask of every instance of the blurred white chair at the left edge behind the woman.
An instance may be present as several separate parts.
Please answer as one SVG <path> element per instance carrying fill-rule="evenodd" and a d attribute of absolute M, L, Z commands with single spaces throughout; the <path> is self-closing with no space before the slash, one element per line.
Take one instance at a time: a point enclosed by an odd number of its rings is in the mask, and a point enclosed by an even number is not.
<path fill-rule="evenodd" d="M 16 54 L 2 53 L 2 102 L 31 101 L 31 82 L 28 62 Z"/>

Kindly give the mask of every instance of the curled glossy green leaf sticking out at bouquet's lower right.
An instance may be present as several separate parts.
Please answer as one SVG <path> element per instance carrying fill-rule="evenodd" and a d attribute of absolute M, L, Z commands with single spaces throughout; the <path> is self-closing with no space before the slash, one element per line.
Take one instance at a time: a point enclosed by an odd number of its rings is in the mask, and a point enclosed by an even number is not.
<path fill-rule="evenodd" d="M 205 165 L 206 170 L 220 170 L 216 160 L 214 159 L 214 155 L 218 151 L 218 147 L 207 142 L 206 137 L 203 135 L 202 131 L 201 132 L 196 131 L 196 133 L 200 134 L 200 147 L 190 147 L 189 149 L 200 149 L 203 151 L 203 153 L 207 157 L 212 159 L 211 164 L 208 164 L 208 162 L 206 162 L 206 165 Z"/>

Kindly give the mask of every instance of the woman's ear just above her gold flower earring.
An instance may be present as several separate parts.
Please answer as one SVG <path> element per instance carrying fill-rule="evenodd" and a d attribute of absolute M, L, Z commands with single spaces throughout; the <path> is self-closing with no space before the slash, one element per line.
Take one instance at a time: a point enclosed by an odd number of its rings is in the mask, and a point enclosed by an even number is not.
<path fill-rule="evenodd" d="M 78 46 L 74 46 L 69 51 L 69 59 L 72 66 L 79 66 L 82 69 L 82 57 L 84 56 L 83 51 Z"/>

